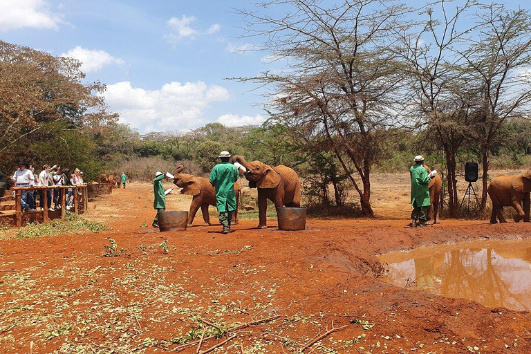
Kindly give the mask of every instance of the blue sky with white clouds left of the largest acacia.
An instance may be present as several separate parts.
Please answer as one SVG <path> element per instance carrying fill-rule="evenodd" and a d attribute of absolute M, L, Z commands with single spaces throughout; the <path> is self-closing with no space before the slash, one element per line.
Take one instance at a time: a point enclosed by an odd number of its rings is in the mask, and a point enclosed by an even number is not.
<path fill-rule="evenodd" d="M 250 6 L 243 0 L 0 0 L 0 39 L 80 59 L 86 80 L 107 84 L 111 110 L 140 133 L 216 121 L 259 124 L 265 120 L 257 106 L 261 92 L 224 80 L 274 65 L 263 61 L 268 53 L 238 51 L 252 44 L 239 38 L 243 24 L 234 8 Z"/>

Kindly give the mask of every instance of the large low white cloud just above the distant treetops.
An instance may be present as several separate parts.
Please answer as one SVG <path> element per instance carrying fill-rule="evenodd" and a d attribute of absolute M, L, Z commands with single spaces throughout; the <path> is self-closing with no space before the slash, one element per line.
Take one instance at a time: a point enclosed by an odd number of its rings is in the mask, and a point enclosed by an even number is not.
<path fill-rule="evenodd" d="M 203 110 L 213 102 L 230 99 L 226 88 L 204 82 L 170 82 L 157 90 L 131 86 L 130 82 L 108 85 L 104 93 L 120 120 L 140 133 L 194 129 L 205 124 Z"/>

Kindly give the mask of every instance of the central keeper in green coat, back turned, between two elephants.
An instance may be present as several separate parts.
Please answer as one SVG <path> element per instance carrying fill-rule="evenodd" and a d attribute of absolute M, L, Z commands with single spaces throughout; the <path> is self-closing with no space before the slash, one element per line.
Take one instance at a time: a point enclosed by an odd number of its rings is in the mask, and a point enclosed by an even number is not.
<path fill-rule="evenodd" d="M 221 163 L 210 171 L 210 184 L 216 189 L 216 208 L 219 212 L 219 223 L 223 225 L 223 234 L 229 234 L 232 212 L 236 210 L 236 196 L 234 196 L 234 182 L 238 180 L 239 173 L 236 166 L 230 163 L 229 151 L 219 154 Z"/>

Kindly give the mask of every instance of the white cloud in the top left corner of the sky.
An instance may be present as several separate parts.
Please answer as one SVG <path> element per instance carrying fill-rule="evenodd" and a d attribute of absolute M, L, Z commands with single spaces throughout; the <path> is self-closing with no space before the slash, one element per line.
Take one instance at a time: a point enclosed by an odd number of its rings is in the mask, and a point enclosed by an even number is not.
<path fill-rule="evenodd" d="M 0 32 L 17 28 L 57 30 L 65 24 L 63 16 L 53 13 L 44 0 L 0 0 Z"/>

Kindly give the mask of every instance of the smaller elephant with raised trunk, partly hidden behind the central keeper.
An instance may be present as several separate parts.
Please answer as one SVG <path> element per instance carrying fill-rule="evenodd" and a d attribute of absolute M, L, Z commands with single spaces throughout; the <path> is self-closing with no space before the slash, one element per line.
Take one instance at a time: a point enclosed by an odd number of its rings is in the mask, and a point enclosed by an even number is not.
<path fill-rule="evenodd" d="M 185 167 L 179 165 L 174 171 L 174 185 L 183 188 L 180 194 L 188 194 L 194 196 L 190 210 L 188 212 L 188 226 L 192 226 L 196 213 L 201 207 L 203 214 L 203 226 L 212 225 L 208 215 L 208 206 L 216 206 L 216 190 L 210 184 L 210 180 L 204 177 L 197 177 L 192 174 L 183 174 Z M 234 183 L 234 194 L 236 194 L 236 210 L 232 213 L 232 225 L 238 224 L 238 205 L 241 196 L 241 187 L 238 183 Z"/>

